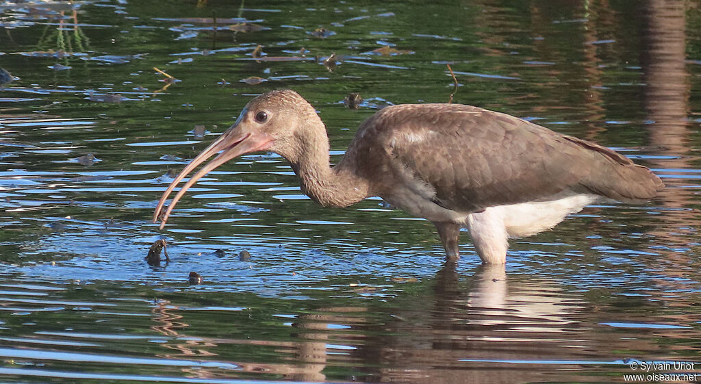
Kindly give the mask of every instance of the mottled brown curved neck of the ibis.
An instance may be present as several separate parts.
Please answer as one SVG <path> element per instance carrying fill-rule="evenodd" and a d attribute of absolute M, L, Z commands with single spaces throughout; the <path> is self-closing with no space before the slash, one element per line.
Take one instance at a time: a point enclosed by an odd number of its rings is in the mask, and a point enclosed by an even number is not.
<path fill-rule="evenodd" d="M 301 191 L 320 205 L 331 207 L 348 207 L 367 198 L 369 183 L 358 176 L 351 162 L 341 161 L 331 167 L 329 138 L 323 123 L 320 129 L 310 132 L 313 134 L 299 138 L 298 155 L 288 158 L 299 177 Z"/>

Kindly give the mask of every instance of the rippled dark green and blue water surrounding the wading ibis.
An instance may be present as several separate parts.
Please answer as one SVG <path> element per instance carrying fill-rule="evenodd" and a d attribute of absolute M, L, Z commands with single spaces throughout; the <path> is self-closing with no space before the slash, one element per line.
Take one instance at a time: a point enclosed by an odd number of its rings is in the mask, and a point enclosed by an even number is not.
<path fill-rule="evenodd" d="M 623 381 L 665 360 L 696 366 L 645 373 L 701 373 L 691 4 L 0 3 L 0 380 Z M 513 240 L 506 268 L 479 266 L 465 235 L 444 266 L 427 221 L 374 199 L 319 207 L 285 160 L 256 153 L 191 188 L 159 231 L 174 172 L 275 88 L 318 109 L 332 160 L 376 109 L 454 93 L 625 153 L 668 188 Z M 170 263 L 149 266 L 159 239 Z"/>

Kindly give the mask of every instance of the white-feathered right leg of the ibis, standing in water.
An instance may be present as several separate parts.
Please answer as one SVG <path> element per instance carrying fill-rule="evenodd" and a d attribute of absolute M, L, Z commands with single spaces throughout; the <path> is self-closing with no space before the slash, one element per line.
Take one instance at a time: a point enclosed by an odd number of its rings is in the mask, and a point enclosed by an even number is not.
<path fill-rule="evenodd" d="M 483 212 L 468 214 L 468 231 L 482 263 L 506 263 L 509 235 L 497 211 L 487 208 Z"/>

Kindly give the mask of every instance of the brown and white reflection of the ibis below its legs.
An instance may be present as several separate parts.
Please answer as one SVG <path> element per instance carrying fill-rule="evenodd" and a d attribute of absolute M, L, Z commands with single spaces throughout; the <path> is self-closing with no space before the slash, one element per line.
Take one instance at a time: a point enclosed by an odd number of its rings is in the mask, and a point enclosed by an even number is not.
<path fill-rule="evenodd" d="M 508 275 L 504 266 L 479 266 L 465 277 L 455 263 L 435 276 L 433 291 L 397 306 L 381 334 L 361 355 L 382 359 L 381 382 L 511 383 L 543 380 L 550 362 L 592 359 L 604 335 L 579 329 L 585 303 L 546 277 Z M 411 303 L 409 303 L 409 301 Z M 418 305 L 419 303 L 423 305 Z M 379 350 L 372 350 L 379 348 Z M 531 361 L 531 364 L 517 364 Z M 542 363 L 538 363 L 538 362 Z M 560 380 L 573 376 L 563 373 Z"/>

